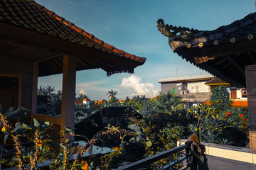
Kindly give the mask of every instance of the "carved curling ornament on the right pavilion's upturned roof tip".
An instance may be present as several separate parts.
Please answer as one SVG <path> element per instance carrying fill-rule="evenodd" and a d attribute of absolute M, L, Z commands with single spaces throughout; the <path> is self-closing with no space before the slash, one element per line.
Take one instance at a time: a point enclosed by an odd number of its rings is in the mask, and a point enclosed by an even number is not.
<path fill-rule="evenodd" d="M 176 27 L 171 25 L 169 26 L 168 24 L 165 25 L 163 19 L 159 19 L 157 21 L 157 28 L 161 32 L 161 34 L 169 38 L 175 37 L 178 33 L 179 35 L 192 35 L 193 33 L 200 32 L 199 30 L 189 29 L 185 27 Z"/>

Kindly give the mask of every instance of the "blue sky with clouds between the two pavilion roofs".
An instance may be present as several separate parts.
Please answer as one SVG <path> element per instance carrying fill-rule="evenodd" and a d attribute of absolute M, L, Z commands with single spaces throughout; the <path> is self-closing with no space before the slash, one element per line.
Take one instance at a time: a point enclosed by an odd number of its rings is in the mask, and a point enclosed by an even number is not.
<path fill-rule="evenodd" d="M 101 69 L 77 72 L 76 93 L 91 99 L 117 98 L 137 94 L 154 97 L 160 91 L 161 78 L 208 74 L 178 57 L 168 38 L 156 28 L 159 18 L 173 26 L 214 30 L 255 12 L 254 0 L 36 0 L 95 37 L 125 52 L 146 57 L 134 74 L 106 76 Z M 62 75 L 38 79 L 38 86 L 61 89 Z"/>

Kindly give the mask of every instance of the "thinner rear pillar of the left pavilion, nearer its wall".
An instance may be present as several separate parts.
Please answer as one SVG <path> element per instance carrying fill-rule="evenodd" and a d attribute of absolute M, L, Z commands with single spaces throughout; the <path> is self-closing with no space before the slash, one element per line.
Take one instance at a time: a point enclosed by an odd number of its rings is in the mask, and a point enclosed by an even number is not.
<path fill-rule="evenodd" d="M 38 62 L 33 63 L 32 106 L 31 113 L 36 113 L 38 86 Z"/>

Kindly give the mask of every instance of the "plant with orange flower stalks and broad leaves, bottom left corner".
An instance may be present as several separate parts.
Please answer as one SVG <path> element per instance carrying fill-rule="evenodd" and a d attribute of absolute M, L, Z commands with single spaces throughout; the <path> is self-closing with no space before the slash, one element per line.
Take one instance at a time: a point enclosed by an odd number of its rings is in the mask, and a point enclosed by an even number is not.
<path fill-rule="evenodd" d="M 3 159 L 1 163 L 7 164 L 9 166 L 16 166 L 19 170 L 25 169 L 25 165 L 29 164 L 28 169 L 37 169 L 36 165 L 38 162 L 43 162 L 47 159 L 52 158 L 53 152 L 49 148 L 48 142 L 50 140 L 43 140 L 45 137 L 44 132 L 51 127 L 49 122 L 40 123 L 34 119 L 34 125 L 26 125 L 25 123 L 16 123 L 13 126 L 9 118 L 25 118 L 26 109 L 20 107 L 16 111 L 13 111 L 14 108 L 9 108 L 6 113 L 0 106 L 0 127 L 1 132 L 4 132 L 4 142 L 6 142 L 7 137 L 11 137 L 11 140 L 14 142 L 14 148 L 16 149 L 16 156 L 11 160 Z M 26 130 L 33 130 L 32 137 L 26 135 Z M 21 144 L 21 137 L 28 137 L 34 144 L 32 149 L 24 149 Z"/>

